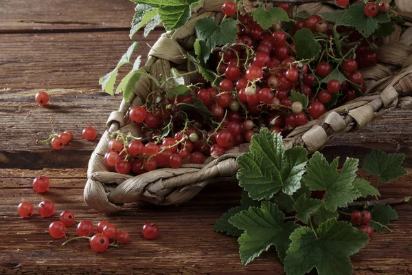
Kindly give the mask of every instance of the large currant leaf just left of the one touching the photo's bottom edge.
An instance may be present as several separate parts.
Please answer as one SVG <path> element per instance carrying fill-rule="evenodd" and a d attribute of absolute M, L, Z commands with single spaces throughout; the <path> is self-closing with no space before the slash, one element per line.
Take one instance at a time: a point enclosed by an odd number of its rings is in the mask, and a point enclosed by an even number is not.
<path fill-rule="evenodd" d="M 267 251 L 271 245 L 275 245 L 279 258 L 284 259 L 290 244 L 290 233 L 299 227 L 293 222 L 284 223 L 284 217 L 274 203 L 264 201 L 260 208 L 251 207 L 229 219 L 229 223 L 245 230 L 238 239 L 243 265 Z"/>

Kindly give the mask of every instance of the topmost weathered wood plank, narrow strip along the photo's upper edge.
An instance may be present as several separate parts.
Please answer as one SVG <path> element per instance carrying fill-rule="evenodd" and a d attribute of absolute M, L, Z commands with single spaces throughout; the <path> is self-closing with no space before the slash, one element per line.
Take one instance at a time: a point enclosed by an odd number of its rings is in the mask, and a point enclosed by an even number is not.
<path fill-rule="evenodd" d="M 3 0 L 0 33 L 39 30 L 130 28 L 135 4 L 128 0 Z"/>

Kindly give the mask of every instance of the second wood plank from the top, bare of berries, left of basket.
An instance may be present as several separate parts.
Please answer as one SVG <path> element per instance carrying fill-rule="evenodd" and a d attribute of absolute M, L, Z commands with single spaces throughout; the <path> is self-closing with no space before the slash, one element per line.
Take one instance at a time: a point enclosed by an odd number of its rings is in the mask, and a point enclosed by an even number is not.
<path fill-rule="evenodd" d="M 148 37 L 138 32 L 140 48 L 136 56 L 145 63 L 148 45 L 153 45 L 161 30 Z M 56 34 L 0 34 L 1 88 L 93 88 L 110 72 L 132 43 L 128 31 L 75 32 Z M 129 71 L 127 65 L 122 72 Z"/>

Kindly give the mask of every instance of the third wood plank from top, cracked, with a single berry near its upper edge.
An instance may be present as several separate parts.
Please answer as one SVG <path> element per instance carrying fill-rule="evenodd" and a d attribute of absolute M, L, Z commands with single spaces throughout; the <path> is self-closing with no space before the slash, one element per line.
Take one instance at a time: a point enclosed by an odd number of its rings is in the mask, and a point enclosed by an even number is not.
<path fill-rule="evenodd" d="M 106 119 L 115 111 L 121 96 L 108 96 L 98 90 L 52 89 L 49 107 L 34 102 L 37 89 L 0 91 L 0 167 L 76 168 L 85 167 L 97 140 L 83 140 L 81 131 L 93 125 L 98 133 L 106 129 Z M 363 157 L 370 148 L 407 154 L 412 167 L 411 110 L 396 109 L 356 133 L 345 133 L 323 149 L 330 156 Z M 53 131 L 71 130 L 73 140 L 61 151 L 36 140 Z"/>

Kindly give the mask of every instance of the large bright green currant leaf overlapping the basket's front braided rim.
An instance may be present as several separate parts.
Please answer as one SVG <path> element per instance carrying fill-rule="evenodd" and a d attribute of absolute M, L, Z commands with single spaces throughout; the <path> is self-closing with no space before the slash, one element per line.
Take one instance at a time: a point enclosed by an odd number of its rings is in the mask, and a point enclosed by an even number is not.
<path fill-rule="evenodd" d="M 239 184 L 252 199 L 271 199 L 279 190 L 292 195 L 308 162 L 308 152 L 297 146 L 284 151 L 282 137 L 262 129 L 253 135 L 250 152 L 237 159 Z"/>

